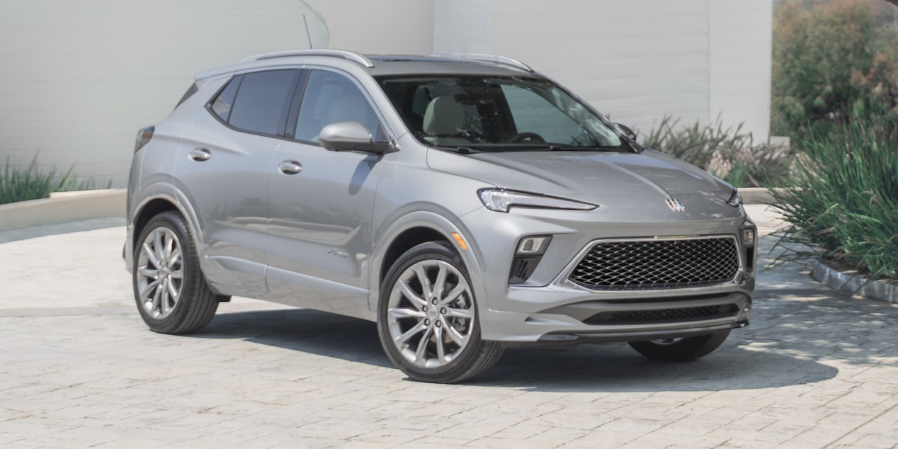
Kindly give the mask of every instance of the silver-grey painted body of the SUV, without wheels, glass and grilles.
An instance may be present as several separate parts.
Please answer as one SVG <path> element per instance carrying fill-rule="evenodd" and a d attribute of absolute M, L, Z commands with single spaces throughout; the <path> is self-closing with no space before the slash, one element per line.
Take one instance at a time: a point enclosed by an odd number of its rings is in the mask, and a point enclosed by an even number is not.
<path fill-rule="evenodd" d="M 442 235 L 461 256 L 477 298 L 481 333 L 489 340 L 535 343 L 559 332 L 594 339 L 689 336 L 736 327 L 747 319 L 754 281 L 745 267 L 734 282 L 655 291 L 593 291 L 568 285 L 562 276 L 596 239 L 739 238 L 753 224 L 741 207 L 726 204 L 731 186 L 664 154 L 636 153 L 626 146 L 616 151 L 461 154 L 424 145 L 372 77 L 407 74 L 409 67 L 433 74 L 443 74 L 444 67 L 465 67 L 469 75 L 522 75 L 512 68 L 458 61 L 375 59 L 375 67 L 366 69 L 323 56 L 229 67 L 233 73 L 326 68 L 350 76 L 377 111 L 392 152 L 333 152 L 285 136 L 228 128 L 202 108 L 225 77 L 200 83 L 199 92 L 158 125 L 160 138 L 154 136 L 136 153 L 133 166 L 141 169 L 132 172 L 139 179 L 132 177 L 129 189 L 129 242 L 139 232 L 135 220 L 146 198 L 170 198 L 194 226 L 202 269 L 217 293 L 374 320 L 381 273 L 389 268 L 384 260 L 388 249 L 403 232 L 426 228 Z M 180 130 L 180 135 L 172 136 L 170 130 Z M 196 148 L 206 149 L 210 157 L 192 159 L 189 154 Z M 165 194 L 154 187 L 159 184 L 168 186 Z M 496 212 L 478 198 L 478 190 L 488 188 L 597 207 Z M 685 210 L 669 207 L 671 198 Z M 529 235 L 551 235 L 552 240 L 533 274 L 509 285 L 515 248 Z M 751 259 L 736 242 L 740 260 Z M 626 312 L 644 304 L 674 309 L 718 303 L 736 304 L 739 312 L 709 320 L 614 326 L 575 318 L 590 307 Z M 565 313 L 574 310 L 581 312 Z"/>

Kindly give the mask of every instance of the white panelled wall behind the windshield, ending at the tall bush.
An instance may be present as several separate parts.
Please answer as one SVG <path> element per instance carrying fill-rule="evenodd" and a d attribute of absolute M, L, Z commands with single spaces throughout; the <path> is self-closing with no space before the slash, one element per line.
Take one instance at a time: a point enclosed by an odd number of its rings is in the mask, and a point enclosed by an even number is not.
<path fill-rule="evenodd" d="M 519 58 L 643 132 L 722 110 L 765 140 L 771 20 L 770 0 L 435 0 L 434 46 Z"/>

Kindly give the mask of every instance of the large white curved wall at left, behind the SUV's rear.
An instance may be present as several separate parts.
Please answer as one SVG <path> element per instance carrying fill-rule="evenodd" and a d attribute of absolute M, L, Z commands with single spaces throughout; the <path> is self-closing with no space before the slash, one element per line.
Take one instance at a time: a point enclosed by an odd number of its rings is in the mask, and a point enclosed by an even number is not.
<path fill-rule="evenodd" d="M 299 0 L 0 1 L 0 164 L 56 165 L 125 185 L 138 128 L 163 119 L 198 71 L 319 46 Z M 323 40 L 321 40 L 323 36 Z"/>

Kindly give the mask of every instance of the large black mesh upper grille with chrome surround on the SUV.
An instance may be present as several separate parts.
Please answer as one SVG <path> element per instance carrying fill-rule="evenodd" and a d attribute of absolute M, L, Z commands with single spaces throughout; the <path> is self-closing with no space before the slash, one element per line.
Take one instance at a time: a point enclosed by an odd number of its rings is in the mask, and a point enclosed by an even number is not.
<path fill-rule="evenodd" d="M 659 290 L 730 282 L 739 271 L 735 239 L 598 242 L 568 278 L 593 290 Z"/>

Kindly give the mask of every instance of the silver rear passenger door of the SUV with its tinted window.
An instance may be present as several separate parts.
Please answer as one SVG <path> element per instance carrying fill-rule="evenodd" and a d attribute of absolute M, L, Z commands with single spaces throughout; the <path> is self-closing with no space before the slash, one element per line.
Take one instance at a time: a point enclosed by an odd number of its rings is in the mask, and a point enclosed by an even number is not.
<path fill-rule="evenodd" d="M 204 274 L 226 295 L 268 290 L 268 175 L 300 73 L 234 76 L 199 111 L 176 165 L 175 179 L 198 216 Z"/>

